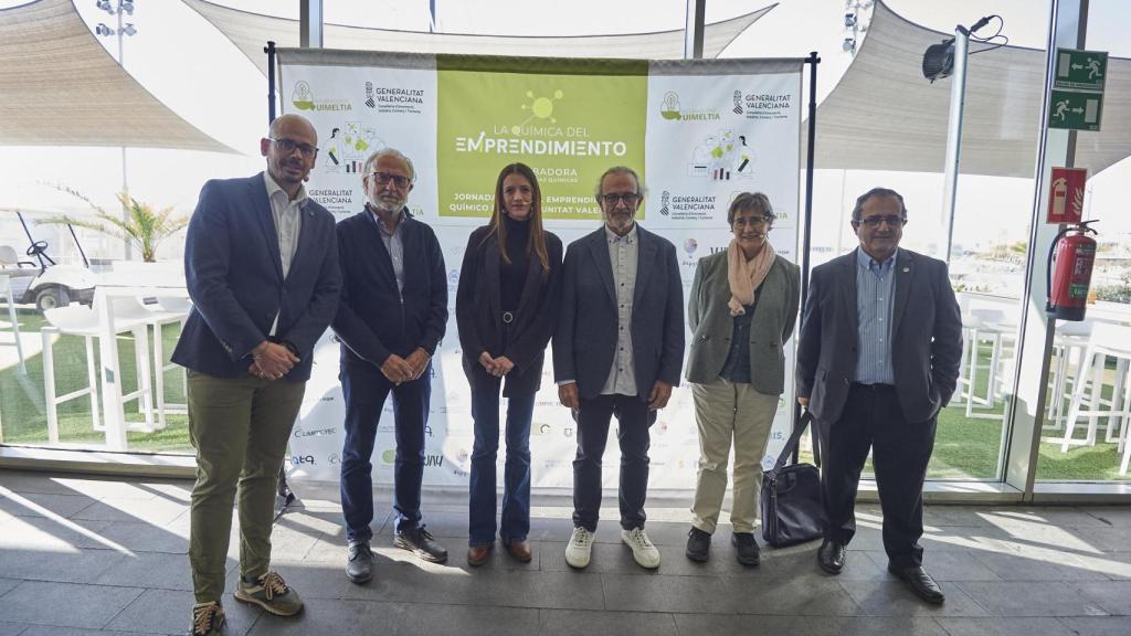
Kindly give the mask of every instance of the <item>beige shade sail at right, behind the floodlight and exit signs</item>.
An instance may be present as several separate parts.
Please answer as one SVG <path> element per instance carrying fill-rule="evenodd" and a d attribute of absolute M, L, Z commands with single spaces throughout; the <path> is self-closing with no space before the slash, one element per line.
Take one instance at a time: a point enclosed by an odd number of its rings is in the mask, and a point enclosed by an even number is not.
<path fill-rule="evenodd" d="M 951 35 L 878 1 L 856 59 L 817 111 L 817 167 L 943 172 L 951 79 L 929 83 L 922 60 L 929 45 Z M 970 42 L 972 52 L 986 48 Z M 1033 177 L 1044 78 L 1042 50 L 970 55 L 962 173 Z M 1108 58 L 1102 127 L 1077 136 L 1076 165 L 1091 174 L 1131 154 L 1131 60 Z"/>

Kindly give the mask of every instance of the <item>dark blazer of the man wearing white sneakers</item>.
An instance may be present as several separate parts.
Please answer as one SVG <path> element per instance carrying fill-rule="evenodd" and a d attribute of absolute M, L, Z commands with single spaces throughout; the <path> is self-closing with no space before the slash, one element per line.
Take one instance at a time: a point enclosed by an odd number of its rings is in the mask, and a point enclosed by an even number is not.
<path fill-rule="evenodd" d="M 632 358 L 637 396 L 656 380 L 680 384 L 683 366 L 683 283 L 675 246 L 639 224 L 632 295 Z M 570 243 L 562 264 L 562 308 L 554 329 L 554 378 L 577 381 L 593 399 L 608 379 L 616 353 L 616 292 L 605 229 Z"/>

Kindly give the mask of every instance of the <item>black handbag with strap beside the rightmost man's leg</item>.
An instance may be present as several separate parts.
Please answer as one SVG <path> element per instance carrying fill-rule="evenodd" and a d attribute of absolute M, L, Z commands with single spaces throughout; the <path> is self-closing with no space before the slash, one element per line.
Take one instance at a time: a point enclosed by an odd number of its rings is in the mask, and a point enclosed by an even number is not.
<path fill-rule="evenodd" d="M 801 433 L 812 423 L 806 411 L 774 469 L 762 472 L 762 539 L 775 548 L 812 541 L 821 532 L 821 474 L 812 464 L 789 464 Z M 817 427 L 813 427 L 815 435 Z M 813 445 L 817 448 L 817 444 Z"/>

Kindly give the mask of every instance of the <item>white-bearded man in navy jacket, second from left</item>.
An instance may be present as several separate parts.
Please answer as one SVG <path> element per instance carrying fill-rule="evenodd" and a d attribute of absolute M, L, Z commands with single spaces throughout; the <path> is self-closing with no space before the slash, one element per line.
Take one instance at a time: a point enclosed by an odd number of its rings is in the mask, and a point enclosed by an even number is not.
<path fill-rule="evenodd" d="M 338 223 L 342 302 L 334 332 L 342 340 L 346 439 L 342 452 L 342 512 L 346 576 L 373 576 L 373 445 L 385 399 L 392 393 L 394 545 L 433 562 L 448 551 L 421 523 L 424 429 L 432 395 L 432 354 L 448 324 L 448 278 L 440 242 L 405 204 L 416 180 L 412 162 L 394 148 L 365 160 L 365 209 Z"/>

